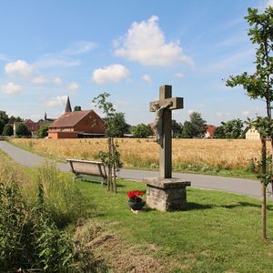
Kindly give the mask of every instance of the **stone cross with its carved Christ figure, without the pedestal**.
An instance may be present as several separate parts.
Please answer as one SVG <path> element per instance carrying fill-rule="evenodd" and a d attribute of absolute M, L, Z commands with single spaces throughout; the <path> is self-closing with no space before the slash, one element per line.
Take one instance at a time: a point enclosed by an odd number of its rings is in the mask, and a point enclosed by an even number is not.
<path fill-rule="evenodd" d="M 153 128 L 159 144 L 159 173 L 161 178 L 172 177 L 172 113 L 183 108 L 183 97 L 172 97 L 172 86 L 160 86 L 159 100 L 150 103 L 150 111 L 156 112 Z"/>

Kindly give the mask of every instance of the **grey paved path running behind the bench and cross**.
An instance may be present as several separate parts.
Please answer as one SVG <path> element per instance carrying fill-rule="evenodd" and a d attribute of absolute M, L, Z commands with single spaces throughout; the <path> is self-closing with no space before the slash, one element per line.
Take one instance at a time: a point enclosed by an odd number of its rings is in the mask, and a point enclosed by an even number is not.
<path fill-rule="evenodd" d="M 37 156 L 21 148 L 15 147 L 6 141 L 0 141 L 0 149 L 2 149 L 16 163 L 25 167 L 36 167 L 43 164 L 46 160 L 44 157 Z M 70 168 L 66 163 L 57 162 L 56 165 L 61 171 L 70 171 Z M 121 169 L 118 173 L 118 177 L 137 181 L 141 181 L 143 177 L 158 177 L 158 175 L 159 173 L 157 171 L 125 168 Z M 173 173 L 173 177 L 181 177 L 184 180 L 191 181 L 192 187 L 216 189 L 249 197 L 261 197 L 261 186 L 257 180 L 183 173 Z"/>

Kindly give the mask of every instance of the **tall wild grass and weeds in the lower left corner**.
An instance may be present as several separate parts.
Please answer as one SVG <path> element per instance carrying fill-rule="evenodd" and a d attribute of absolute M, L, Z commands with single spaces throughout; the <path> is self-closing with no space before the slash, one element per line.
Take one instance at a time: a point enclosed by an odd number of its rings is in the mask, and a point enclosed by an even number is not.
<path fill-rule="evenodd" d="M 89 200 L 55 166 L 45 164 L 25 176 L 0 154 L 0 271 L 81 272 L 82 252 L 60 228 L 90 217 Z M 90 253 L 89 258 L 91 270 Z"/>

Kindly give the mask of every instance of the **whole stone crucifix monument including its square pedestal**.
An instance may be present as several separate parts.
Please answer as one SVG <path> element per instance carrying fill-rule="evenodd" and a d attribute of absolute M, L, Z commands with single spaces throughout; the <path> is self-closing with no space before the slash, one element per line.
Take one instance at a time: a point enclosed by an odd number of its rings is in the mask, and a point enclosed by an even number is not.
<path fill-rule="evenodd" d="M 159 145 L 159 177 L 144 178 L 147 183 L 147 205 L 158 210 L 187 208 L 186 187 L 189 181 L 172 178 L 172 110 L 183 108 L 183 97 L 172 97 L 172 86 L 160 86 L 159 100 L 150 103 L 156 112 L 152 124 Z"/>

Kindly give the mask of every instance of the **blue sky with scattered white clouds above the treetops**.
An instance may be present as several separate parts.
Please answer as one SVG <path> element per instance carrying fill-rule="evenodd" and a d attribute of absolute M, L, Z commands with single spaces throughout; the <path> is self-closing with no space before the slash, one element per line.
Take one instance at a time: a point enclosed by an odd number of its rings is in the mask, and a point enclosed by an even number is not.
<path fill-rule="evenodd" d="M 184 97 L 173 111 L 208 124 L 264 115 L 264 103 L 223 78 L 253 72 L 248 7 L 272 0 L 1 0 L 0 110 L 35 121 L 103 92 L 131 125 L 149 123 L 161 85 Z"/>

